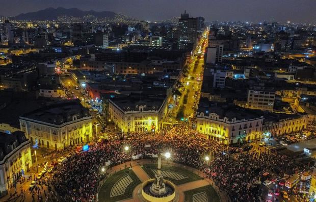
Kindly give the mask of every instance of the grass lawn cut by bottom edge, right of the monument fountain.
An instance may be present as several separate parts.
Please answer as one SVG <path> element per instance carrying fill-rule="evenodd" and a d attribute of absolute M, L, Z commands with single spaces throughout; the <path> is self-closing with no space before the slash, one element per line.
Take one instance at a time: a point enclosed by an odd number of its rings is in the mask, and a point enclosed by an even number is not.
<path fill-rule="evenodd" d="M 219 202 L 220 197 L 212 187 L 212 185 L 207 185 L 197 189 L 192 189 L 185 192 L 185 202 L 193 202 L 193 195 L 205 192 L 207 196 L 207 202 Z"/>

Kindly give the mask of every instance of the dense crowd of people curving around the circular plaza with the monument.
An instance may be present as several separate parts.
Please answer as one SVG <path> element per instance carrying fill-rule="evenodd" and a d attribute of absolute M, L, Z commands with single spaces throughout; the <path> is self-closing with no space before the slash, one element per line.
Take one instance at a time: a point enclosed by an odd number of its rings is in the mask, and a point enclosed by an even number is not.
<path fill-rule="evenodd" d="M 124 149 L 126 145 L 128 151 Z M 64 201 L 88 201 L 97 192 L 104 175 L 100 170 L 106 162 L 111 161 L 114 166 L 136 155 L 147 158 L 149 154 L 170 152 L 172 161 L 203 171 L 232 201 L 260 201 L 262 185 L 258 181 L 267 176 L 282 178 L 286 172 L 295 171 L 292 161 L 285 156 L 256 150 L 229 155 L 235 149 L 199 138 L 187 125 L 156 133 L 113 134 L 109 140 L 91 146 L 88 152 L 75 155 L 61 165 L 50 183 Z M 209 162 L 204 159 L 206 155 Z"/>

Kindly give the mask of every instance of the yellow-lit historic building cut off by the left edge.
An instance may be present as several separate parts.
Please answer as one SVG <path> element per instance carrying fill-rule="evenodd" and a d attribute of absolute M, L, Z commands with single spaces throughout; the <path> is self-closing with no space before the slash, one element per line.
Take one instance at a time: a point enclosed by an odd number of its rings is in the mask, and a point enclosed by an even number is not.
<path fill-rule="evenodd" d="M 0 132 L 0 197 L 32 166 L 31 141 L 24 132 Z"/>

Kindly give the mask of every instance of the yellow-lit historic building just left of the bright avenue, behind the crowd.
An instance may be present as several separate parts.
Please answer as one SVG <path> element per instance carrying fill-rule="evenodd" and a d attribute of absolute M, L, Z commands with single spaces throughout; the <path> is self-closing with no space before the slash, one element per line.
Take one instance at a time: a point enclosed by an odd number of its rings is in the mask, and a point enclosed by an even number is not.
<path fill-rule="evenodd" d="M 125 103 L 125 99 L 109 100 L 109 117 L 122 132 L 159 131 L 167 113 L 167 100 L 159 99 L 152 102 L 148 97 L 136 103 Z M 123 104 L 124 103 L 124 104 Z M 123 104 L 123 105 L 122 105 Z"/>

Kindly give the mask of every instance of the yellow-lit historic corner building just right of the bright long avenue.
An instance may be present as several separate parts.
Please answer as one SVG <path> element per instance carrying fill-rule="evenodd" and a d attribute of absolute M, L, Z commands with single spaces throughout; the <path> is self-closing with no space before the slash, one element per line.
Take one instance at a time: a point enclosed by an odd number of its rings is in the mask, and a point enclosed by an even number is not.
<path fill-rule="evenodd" d="M 206 138 L 225 144 L 259 139 L 264 116 L 228 103 L 213 103 L 201 98 L 196 118 L 196 130 Z"/>

